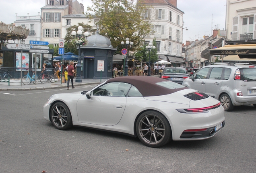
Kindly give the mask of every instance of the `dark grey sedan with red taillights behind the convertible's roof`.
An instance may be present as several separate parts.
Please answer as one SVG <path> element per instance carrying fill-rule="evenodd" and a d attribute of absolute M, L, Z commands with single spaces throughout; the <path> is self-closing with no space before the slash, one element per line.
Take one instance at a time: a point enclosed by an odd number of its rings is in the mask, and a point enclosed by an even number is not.
<path fill-rule="evenodd" d="M 183 67 L 165 67 L 162 73 L 159 74 L 160 78 L 182 84 L 185 78 L 189 77 L 186 68 Z"/>

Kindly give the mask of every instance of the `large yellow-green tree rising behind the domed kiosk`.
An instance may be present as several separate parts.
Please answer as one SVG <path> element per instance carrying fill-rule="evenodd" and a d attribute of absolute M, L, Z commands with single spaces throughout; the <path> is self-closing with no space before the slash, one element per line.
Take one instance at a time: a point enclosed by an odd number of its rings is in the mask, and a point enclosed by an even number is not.
<path fill-rule="evenodd" d="M 114 48 L 118 48 L 117 53 L 124 48 L 121 42 L 126 42 L 125 38 L 130 38 L 130 41 L 134 42 L 129 48 L 130 51 L 134 52 L 143 46 L 145 36 L 151 31 L 150 19 L 142 18 L 149 6 L 135 3 L 134 0 L 92 0 L 92 2 L 93 5 L 87 10 L 93 14 L 87 14 L 99 18 L 97 25 L 100 34 L 109 38 Z"/>

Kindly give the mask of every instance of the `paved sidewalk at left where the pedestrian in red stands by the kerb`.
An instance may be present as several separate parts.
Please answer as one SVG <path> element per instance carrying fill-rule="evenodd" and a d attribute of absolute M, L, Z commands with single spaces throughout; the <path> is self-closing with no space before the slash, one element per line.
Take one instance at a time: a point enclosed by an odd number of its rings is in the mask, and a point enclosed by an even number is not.
<path fill-rule="evenodd" d="M 74 87 L 82 86 L 82 85 L 89 85 L 89 84 L 100 84 L 105 82 L 107 79 L 82 79 L 82 82 L 75 82 L 76 79 L 74 78 Z M 19 82 L 20 83 L 20 82 Z M 69 87 L 71 87 L 71 81 L 69 82 Z M 67 83 L 62 82 L 60 80 L 55 80 L 55 82 L 51 83 L 50 81 L 45 82 L 44 84 L 40 81 L 37 84 L 24 85 L 3 85 L 0 83 L 0 91 L 29 91 L 29 90 L 44 90 L 44 89 L 59 89 L 59 88 L 67 88 Z M 71 87 L 72 88 L 72 87 Z"/>

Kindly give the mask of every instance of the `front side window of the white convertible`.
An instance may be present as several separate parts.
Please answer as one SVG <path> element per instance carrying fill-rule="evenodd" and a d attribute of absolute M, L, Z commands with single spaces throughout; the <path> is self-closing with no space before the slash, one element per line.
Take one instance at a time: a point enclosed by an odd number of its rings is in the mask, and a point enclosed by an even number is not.
<path fill-rule="evenodd" d="M 93 91 L 95 96 L 126 97 L 132 85 L 124 82 L 110 82 Z"/>

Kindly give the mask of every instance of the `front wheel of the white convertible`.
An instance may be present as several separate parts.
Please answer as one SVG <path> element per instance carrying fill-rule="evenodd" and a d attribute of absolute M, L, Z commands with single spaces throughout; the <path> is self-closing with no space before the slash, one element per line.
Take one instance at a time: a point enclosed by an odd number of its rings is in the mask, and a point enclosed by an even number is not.
<path fill-rule="evenodd" d="M 50 111 L 52 124 L 60 130 L 72 127 L 72 117 L 67 105 L 62 102 L 55 103 Z"/>

